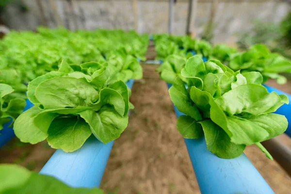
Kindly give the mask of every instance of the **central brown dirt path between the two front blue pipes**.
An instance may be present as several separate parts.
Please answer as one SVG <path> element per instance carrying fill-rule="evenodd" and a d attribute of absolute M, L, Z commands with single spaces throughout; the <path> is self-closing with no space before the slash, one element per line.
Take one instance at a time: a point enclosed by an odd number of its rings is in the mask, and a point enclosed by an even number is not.
<path fill-rule="evenodd" d="M 144 79 L 136 81 L 130 101 L 135 109 L 129 126 L 115 141 L 102 188 L 118 194 L 198 193 L 194 172 L 167 86 L 144 65 Z"/>

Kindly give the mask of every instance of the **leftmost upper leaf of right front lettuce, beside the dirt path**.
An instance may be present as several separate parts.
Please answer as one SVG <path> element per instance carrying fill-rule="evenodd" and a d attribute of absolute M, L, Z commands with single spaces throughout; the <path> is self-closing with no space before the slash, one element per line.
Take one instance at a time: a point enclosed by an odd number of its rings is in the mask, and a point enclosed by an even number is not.
<path fill-rule="evenodd" d="M 176 78 L 173 86 L 169 89 L 169 94 L 172 102 L 180 112 L 191 116 L 196 121 L 200 121 L 202 119 L 199 110 L 195 107 L 194 103 L 188 96 L 188 92 L 183 81 L 179 78 Z"/>

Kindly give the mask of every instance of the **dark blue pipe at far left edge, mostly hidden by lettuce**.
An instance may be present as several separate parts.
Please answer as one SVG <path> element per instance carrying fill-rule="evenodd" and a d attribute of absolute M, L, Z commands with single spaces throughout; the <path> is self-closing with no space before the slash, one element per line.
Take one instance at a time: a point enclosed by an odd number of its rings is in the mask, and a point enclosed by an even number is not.
<path fill-rule="evenodd" d="M 24 107 L 23 111 L 26 111 L 32 108 L 33 104 L 27 99 L 26 106 Z M 3 125 L 3 129 L 0 130 L 0 147 L 4 146 L 9 140 L 11 140 L 14 136 L 14 130 L 9 125 L 12 123 L 12 119 L 9 123 L 5 123 Z"/>

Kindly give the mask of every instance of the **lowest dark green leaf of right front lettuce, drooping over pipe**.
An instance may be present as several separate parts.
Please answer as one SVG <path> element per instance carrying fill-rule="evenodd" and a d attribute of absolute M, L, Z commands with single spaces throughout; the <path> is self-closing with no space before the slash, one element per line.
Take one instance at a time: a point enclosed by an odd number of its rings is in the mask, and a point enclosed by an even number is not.
<path fill-rule="evenodd" d="M 232 159 L 239 157 L 245 145 L 236 145 L 230 142 L 226 132 L 211 120 L 199 122 L 202 125 L 207 149 L 219 158 Z"/>

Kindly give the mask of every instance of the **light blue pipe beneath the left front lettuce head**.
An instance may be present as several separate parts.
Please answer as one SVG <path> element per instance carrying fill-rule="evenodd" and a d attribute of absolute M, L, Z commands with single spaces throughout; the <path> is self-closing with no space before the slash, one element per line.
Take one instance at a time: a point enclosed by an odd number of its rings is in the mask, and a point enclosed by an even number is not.
<path fill-rule="evenodd" d="M 133 80 L 126 82 L 131 89 Z M 40 174 L 50 175 L 72 187 L 99 187 L 113 146 L 113 141 L 106 145 L 93 135 L 84 145 L 70 153 L 58 149 Z"/>

